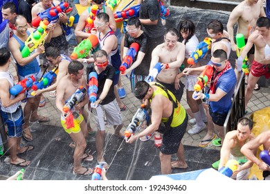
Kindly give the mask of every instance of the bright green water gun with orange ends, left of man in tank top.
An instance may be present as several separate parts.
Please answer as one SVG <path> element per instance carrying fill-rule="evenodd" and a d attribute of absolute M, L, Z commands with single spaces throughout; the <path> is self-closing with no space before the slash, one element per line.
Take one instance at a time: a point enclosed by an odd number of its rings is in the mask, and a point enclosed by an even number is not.
<path fill-rule="evenodd" d="M 82 40 L 78 46 L 75 46 L 73 53 L 71 53 L 71 60 L 78 58 L 86 58 L 91 48 L 98 45 L 98 37 L 96 35 L 90 35 L 87 39 Z"/>

